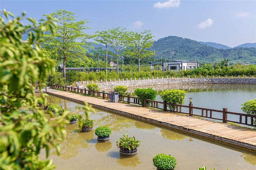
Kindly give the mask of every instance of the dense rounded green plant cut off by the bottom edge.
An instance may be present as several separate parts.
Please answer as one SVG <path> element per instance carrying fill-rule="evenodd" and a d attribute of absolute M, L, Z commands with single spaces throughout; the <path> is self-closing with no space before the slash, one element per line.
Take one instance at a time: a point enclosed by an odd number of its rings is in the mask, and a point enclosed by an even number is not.
<path fill-rule="evenodd" d="M 177 161 L 171 155 L 159 153 L 153 158 L 153 164 L 158 169 L 169 170 L 174 169 L 176 167 Z"/>

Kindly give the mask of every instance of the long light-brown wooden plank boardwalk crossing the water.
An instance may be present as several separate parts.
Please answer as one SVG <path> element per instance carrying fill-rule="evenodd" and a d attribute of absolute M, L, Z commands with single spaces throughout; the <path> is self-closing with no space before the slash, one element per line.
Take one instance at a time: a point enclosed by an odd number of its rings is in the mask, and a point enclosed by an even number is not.
<path fill-rule="evenodd" d="M 47 89 L 47 93 L 256 151 L 256 130 L 253 129 L 54 89 Z"/>

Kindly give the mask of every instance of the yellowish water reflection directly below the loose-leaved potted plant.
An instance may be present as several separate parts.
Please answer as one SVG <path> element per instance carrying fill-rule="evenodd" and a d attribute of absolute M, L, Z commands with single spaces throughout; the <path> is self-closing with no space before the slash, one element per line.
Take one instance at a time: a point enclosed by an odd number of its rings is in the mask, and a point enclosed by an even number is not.
<path fill-rule="evenodd" d="M 137 167 L 137 165 L 141 164 L 140 158 L 138 154 L 133 156 L 121 155 L 116 159 L 116 162 L 122 167 Z"/>

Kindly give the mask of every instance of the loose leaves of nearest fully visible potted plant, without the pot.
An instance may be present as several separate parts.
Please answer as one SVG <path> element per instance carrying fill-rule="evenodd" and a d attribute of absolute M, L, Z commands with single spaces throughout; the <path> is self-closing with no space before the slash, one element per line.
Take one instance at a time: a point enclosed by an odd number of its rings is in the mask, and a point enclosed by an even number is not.
<path fill-rule="evenodd" d="M 116 146 L 122 149 L 133 150 L 140 146 L 139 140 L 136 140 L 135 137 L 128 137 L 128 134 L 123 135 L 120 140 L 116 141 Z"/>

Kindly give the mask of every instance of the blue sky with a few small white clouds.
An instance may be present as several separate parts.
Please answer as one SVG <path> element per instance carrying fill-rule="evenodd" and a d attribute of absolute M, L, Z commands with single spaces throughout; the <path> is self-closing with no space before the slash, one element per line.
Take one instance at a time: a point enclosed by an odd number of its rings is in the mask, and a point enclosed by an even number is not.
<path fill-rule="evenodd" d="M 236 47 L 256 42 L 256 0 L 1 0 L 0 9 L 38 21 L 57 9 L 88 20 L 88 34 L 105 28 L 151 30 L 155 40 L 179 36 Z"/>

